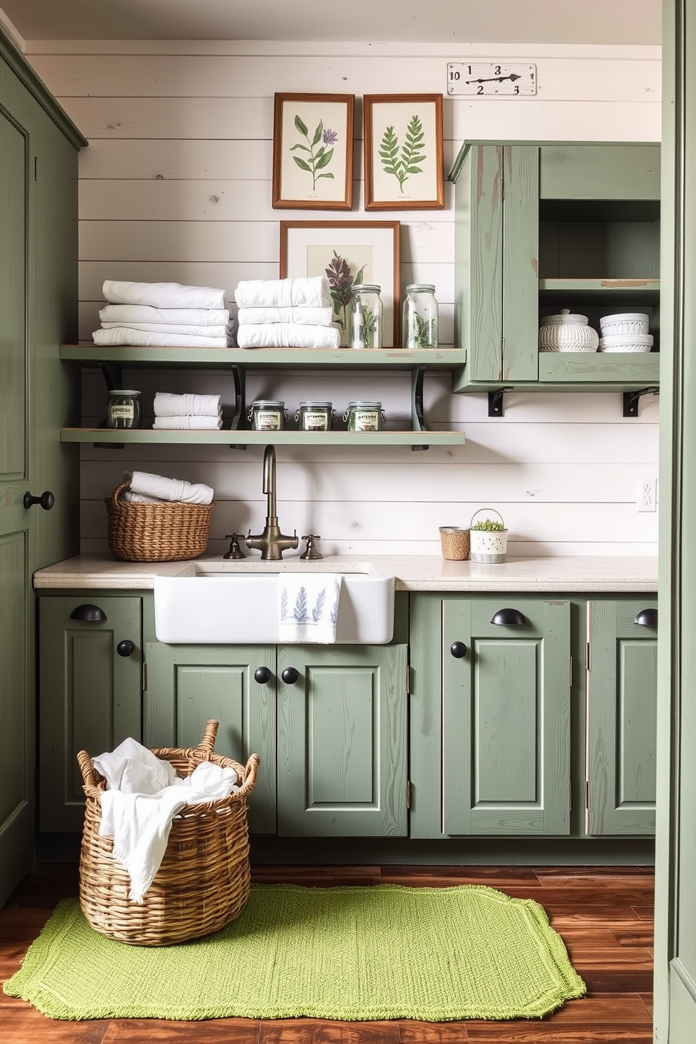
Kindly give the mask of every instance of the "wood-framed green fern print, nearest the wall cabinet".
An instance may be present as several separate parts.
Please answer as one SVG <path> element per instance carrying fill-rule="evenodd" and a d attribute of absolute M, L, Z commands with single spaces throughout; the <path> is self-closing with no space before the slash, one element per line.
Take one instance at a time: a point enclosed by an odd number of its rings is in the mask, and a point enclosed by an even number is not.
<path fill-rule="evenodd" d="M 363 98 L 365 210 L 445 207 L 441 94 Z"/>

